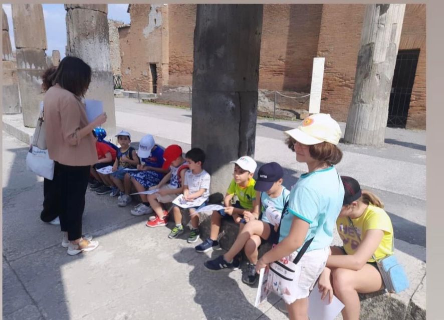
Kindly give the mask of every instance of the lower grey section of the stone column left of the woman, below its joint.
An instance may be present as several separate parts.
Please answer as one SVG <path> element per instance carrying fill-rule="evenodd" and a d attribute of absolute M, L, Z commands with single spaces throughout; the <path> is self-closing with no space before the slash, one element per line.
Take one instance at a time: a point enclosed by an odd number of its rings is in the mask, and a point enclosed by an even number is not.
<path fill-rule="evenodd" d="M 43 100 L 42 73 L 48 67 L 43 49 L 18 49 L 17 73 L 25 126 L 35 127 Z"/>

